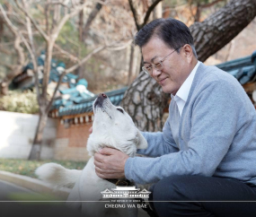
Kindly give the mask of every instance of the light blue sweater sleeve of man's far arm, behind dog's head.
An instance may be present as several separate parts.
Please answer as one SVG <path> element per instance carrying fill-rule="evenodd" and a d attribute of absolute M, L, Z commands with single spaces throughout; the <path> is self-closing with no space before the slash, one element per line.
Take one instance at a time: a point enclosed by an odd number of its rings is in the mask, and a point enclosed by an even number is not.
<path fill-rule="evenodd" d="M 148 157 L 159 157 L 166 153 L 178 152 L 179 149 L 172 137 L 169 117 L 167 118 L 163 132 L 148 133 L 141 132 L 146 138 L 148 147 L 146 149 L 138 149 L 137 153 L 144 154 Z"/>

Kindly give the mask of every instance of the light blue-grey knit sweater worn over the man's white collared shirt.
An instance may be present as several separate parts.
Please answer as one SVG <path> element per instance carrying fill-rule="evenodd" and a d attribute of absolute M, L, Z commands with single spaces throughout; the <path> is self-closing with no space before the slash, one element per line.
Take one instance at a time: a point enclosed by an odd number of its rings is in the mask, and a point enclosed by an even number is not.
<path fill-rule="evenodd" d="M 126 178 L 154 183 L 172 175 L 238 179 L 256 185 L 256 112 L 243 87 L 215 66 L 199 65 L 180 117 L 174 100 L 163 132 L 128 158 Z"/>

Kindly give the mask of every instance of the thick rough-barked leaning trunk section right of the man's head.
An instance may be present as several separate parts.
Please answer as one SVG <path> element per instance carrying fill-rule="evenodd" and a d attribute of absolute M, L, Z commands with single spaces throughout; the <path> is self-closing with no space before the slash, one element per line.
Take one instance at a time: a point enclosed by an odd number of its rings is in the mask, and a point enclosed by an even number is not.
<path fill-rule="evenodd" d="M 190 26 L 199 60 L 204 62 L 238 35 L 256 16 L 255 0 L 232 0 L 204 22 Z"/>

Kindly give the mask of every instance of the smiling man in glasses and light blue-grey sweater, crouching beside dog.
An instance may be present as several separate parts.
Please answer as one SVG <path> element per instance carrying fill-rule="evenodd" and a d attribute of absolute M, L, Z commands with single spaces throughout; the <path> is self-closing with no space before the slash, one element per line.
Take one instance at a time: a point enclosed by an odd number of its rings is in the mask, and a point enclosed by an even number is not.
<path fill-rule="evenodd" d="M 143 133 L 148 148 L 137 152 L 153 158 L 106 148 L 95 154 L 97 175 L 155 183 L 159 216 L 256 216 L 256 113 L 241 84 L 198 61 L 180 21 L 148 23 L 136 44 L 143 71 L 171 93 L 169 117 L 163 132 Z"/>

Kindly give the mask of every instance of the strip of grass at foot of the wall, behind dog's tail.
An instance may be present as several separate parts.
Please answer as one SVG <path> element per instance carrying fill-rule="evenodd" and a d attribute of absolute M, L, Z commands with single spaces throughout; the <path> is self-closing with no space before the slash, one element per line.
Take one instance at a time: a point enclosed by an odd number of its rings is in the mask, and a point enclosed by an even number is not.
<path fill-rule="evenodd" d="M 36 178 L 35 169 L 47 162 L 56 162 L 67 169 L 84 169 L 86 162 L 82 161 L 27 161 L 17 159 L 0 159 L 0 170 L 13 172 L 23 176 Z"/>

